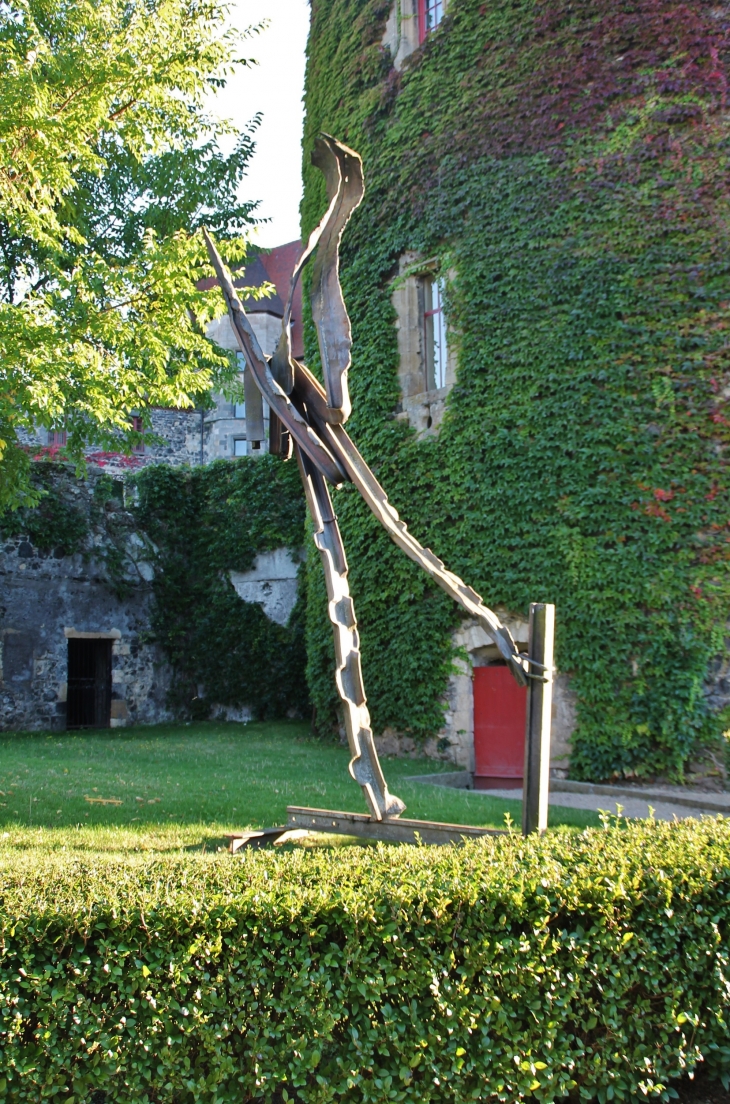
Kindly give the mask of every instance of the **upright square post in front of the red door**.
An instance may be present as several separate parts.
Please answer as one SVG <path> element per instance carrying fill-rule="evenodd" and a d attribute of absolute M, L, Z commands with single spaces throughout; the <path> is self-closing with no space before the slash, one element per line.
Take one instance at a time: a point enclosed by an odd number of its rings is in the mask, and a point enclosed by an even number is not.
<path fill-rule="evenodd" d="M 556 607 L 546 602 L 532 602 L 528 638 L 531 664 L 527 687 L 522 778 L 523 836 L 529 836 L 533 831 L 542 832 L 548 827 L 554 635 Z"/>

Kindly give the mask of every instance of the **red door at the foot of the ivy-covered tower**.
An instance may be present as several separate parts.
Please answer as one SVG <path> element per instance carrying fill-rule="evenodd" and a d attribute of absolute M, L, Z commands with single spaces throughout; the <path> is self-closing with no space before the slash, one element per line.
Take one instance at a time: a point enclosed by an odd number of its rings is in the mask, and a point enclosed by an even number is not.
<path fill-rule="evenodd" d="M 517 789 L 525 766 L 527 689 L 508 667 L 474 668 L 474 788 Z"/>

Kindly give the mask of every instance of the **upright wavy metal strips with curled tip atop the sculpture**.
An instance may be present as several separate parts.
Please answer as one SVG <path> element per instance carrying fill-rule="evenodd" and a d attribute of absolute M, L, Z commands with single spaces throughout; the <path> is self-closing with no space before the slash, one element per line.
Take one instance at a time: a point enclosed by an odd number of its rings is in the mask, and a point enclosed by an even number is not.
<path fill-rule="evenodd" d="M 272 358 L 272 374 L 282 389 L 290 394 L 295 371 L 290 339 L 294 289 L 316 250 L 311 279 L 311 316 L 319 339 L 327 394 L 327 421 L 342 423 L 347 422 L 351 411 L 347 374 L 350 368 L 352 337 L 340 287 L 339 246 L 350 215 L 364 194 L 362 161 L 355 150 L 343 146 L 330 135 L 321 135 L 315 142 L 311 163 L 321 169 L 325 176 L 329 206 L 317 229 L 310 234 L 307 248 L 292 274 L 289 297 L 282 321 L 282 337 Z"/>

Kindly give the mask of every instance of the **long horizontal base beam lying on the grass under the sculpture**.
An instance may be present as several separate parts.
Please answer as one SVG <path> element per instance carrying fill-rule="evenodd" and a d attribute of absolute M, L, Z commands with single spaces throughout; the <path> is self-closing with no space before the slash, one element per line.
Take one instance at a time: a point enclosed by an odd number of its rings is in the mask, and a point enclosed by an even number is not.
<path fill-rule="evenodd" d="M 447 825 L 438 820 L 373 820 L 362 813 L 338 813 L 332 809 L 309 809 L 289 805 L 286 809 L 288 828 L 309 831 L 331 831 L 338 836 L 359 836 L 362 839 L 383 840 L 388 843 L 461 843 L 479 836 L 504 836 L 500 828 L 479 828 L 477 825 Z"/>

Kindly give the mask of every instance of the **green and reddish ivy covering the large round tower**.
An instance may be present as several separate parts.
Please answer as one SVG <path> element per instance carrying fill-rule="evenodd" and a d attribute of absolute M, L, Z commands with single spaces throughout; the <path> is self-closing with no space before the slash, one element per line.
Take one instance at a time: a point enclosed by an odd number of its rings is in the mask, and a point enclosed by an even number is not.
<path fill-rule="evenodd" d="M 490 605 L 550 601 L 572 772 L 680 775 L 722 715 L 729 612 L 730 9 L 451 0 L 401 73 L 388 0 L 313 0 L 303 229 L 320 130 L 360 151 L 346 232 L 352 436 L 413 532 Z M 390 282 L 437 256 L 458 378 L 437 436 L 394 417 Z M 316 363 L 314 332 L 308 360 Z M 457 613 L 335 495 L 375 731 L 438 729 Z M 308 673 L 331 710 L 311 564 Z"/>

